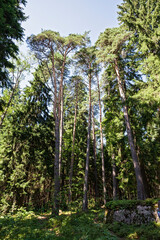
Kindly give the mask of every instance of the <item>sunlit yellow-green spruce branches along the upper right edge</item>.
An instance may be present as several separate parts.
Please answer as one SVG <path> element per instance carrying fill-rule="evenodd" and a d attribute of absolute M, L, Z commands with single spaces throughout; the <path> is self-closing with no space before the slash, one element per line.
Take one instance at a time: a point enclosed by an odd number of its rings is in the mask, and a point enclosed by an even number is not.
<path fill-rule="evenodd" d="M 142 58 L 139 70 L 149 79 L 144 88 L 140 89 L 138 97 L 142 99 L 144 96 L 145 102 L 159 103 L 160 2 L 124 0 L 119 9 L 119 20 L 122 25 L 134 33 L 133 43 Z"/>

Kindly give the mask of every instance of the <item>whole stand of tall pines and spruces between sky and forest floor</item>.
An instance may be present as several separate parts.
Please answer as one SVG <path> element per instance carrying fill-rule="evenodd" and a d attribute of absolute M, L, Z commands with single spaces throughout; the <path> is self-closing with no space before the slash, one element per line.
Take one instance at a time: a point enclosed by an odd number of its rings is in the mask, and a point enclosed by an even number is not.
<path fill-rule="evenodd" d="M 58 215 L 160 197 L 160 3 L 120 3 L 120 26 L 105 27 L 94 45 L 88 29 L 64 37 L 47 26 L 27 36 L 24 56 L 15 40 L 23 39 L 27 3 L 1 1 L 3 213 Z"/>

